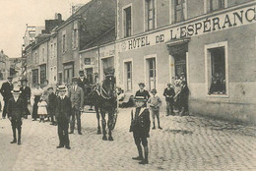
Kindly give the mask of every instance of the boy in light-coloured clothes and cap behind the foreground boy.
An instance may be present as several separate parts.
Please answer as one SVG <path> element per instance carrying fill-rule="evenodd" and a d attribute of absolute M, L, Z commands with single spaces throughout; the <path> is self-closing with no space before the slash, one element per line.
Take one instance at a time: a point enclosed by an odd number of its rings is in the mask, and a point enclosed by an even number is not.
<path fill-rule="evenodd" d="M 161 130 L 162 128 L 160 127 L 160 105 L 161 105 L 161 100 L 160 97 L 157 95 L 157 89 L 153 88 L 151 90 L 151 93 L 153 94 L 152 97 L 150 97 L 148 103 L 151 107 L 151 112 L 152 112 L 152 118 L 153 118 L 153 130 L 156 129 L 155 126 L 155 118 L 157 116 L 158 119 L 158 124 L 159 124 L 159 129 Z"/>

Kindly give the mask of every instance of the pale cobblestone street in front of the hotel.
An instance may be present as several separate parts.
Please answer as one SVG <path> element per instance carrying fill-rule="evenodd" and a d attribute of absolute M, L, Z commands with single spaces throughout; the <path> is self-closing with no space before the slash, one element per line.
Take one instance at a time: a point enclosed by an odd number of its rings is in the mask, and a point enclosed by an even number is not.
<path fill-rule="evenodd" d="M 162 130 L 151 131 L 150 164 L 139 165 L 130 109 L 121 109 L 114 142 L 96 135 L 96 114 L 82 116 L 83 135 L 70 135 L 71 150 L 57 149 L 57 127 L 24 120 L 22 145 L 10 144 L 10 122 L 0 120 L 1 171 L 256 170 L 255 128 L 193 116 L 161 113 Z"/>

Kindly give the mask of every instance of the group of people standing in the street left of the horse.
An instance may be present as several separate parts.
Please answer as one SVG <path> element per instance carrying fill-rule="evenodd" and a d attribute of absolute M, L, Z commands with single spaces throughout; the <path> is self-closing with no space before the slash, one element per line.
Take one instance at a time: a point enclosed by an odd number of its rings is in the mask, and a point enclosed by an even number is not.
<path fill-rule="evenodd" d="M 39 118 L 39 122 L 44 123 L 47 119 L 46 121 L 51 121 L 51 125 L 58 126 L 57 148 L 65 146 L 70 149 L 68 134 L 74 134 L 76 121 L 78 134 L 82 135 L 81 113 L 84 110 L 87 79 L 84 71 L 80 71 L 79 75 L 79 78 L 72 79 L 69 88 L 66 85 L 58 85 L 55 92 L 54 87 L 49 86 L 47 81 L 42 85 L 34 84 L 34 88 L 31 89 L 26 78 L 20 80 L 21 85 L 15 85 L 12 82 L 13 78 L 8 77 L 8 82 L 2 85 L 0 92 L 4 100 L 2 118 L 5 119 L 7 116 L 12 125 L 11 143 L 21 144 L 23 119 L 28 119 L 28 115 L 31 115 L 28 104 L 32 101 L 32 121 Z"/>

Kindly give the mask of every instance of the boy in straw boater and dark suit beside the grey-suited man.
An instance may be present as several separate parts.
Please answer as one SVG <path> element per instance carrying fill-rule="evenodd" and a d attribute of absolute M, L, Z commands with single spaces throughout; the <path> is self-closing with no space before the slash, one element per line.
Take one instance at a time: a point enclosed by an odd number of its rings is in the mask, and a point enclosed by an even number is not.
<path fill-rule="evenodd" d="M 68 96 L 65 95 L 67 87 L 65 85 L 58 86 L 59 96 L 56 100 L 56 119 L 58 123 L 58 136 L 59 136 L 59 145 L 57 148 L 66 147 L 70 149 L 69 145 L 69 118 L 72 112 L 71 101 Z"/>

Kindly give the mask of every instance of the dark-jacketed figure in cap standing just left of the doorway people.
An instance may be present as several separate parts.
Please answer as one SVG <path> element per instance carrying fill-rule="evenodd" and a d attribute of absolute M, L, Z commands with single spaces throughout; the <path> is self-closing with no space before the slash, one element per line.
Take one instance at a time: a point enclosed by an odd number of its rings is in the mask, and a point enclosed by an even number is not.
<path fill-rule="evenodd" d="M 171 84 L 168 83 L 167 87 L 164 89 L 163 91 L 163 96 L 165 96 L 165 101 L 166 101 L 166 116 L 169 115 L 174 115 L 173 114 L 173 97 L 175 96 L 175 91 L 174 89 L 171 87 Z"/>

